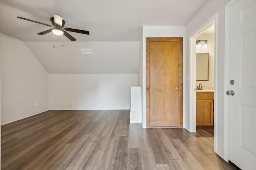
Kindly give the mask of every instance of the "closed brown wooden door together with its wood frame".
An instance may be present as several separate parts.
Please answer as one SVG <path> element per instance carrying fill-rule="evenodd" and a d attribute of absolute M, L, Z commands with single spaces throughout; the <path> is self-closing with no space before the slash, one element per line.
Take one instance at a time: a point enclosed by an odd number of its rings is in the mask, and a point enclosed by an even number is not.
<path fill-rule="evenodd" d="M 182 127 L 182 37 L 146 39 L 147 127 Z"/>

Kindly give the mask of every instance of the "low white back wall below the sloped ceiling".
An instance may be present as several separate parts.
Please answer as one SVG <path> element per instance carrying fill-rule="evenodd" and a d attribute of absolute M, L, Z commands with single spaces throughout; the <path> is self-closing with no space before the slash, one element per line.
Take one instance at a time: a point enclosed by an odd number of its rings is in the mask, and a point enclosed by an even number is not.
<path fill-rule="evenodd" d="M 130 109 L 137 85 L 137 74 L 49 74 L 49 109 Z"/>

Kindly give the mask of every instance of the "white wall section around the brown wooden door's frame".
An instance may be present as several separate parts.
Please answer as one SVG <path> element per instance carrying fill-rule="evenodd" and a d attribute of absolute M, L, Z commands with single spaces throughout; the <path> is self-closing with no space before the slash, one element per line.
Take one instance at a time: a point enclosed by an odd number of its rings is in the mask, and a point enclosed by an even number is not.
<path fill-rule="evenodd" d="M 142 82 L 142 126 L 146 128 L 146 37 L 185 37 L 185 27 L 170 27 L 170 26 L 143 26 L 142 28 L 142 63 L 139 62 L 143 69 Z M 183 43 L 184 49 L 184 43 Z M 184 50 L 183 50 L 184 56 Z M 184 74 L 183 74 L 184 75 Z M 183 84 L 184 82 L 183 79 Z M 141 84 L 139 84 L 141 86 Z M 183 93 L 184 94 L 184 93 Z M 184 106 L 184 101 L 183 101 Z M 183 111 L 186 108 L 183 107 Z M 183 116 L 183 121 L 186 117 Z"/>

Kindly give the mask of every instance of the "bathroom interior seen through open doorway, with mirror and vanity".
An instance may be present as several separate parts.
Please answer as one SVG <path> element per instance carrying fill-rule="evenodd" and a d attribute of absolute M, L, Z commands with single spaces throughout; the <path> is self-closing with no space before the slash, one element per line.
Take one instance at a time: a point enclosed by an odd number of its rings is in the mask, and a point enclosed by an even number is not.
<path fill-rule="evenodd" d="M 196 130 L 214 135 L 215 25 L 196 36 Z"/>

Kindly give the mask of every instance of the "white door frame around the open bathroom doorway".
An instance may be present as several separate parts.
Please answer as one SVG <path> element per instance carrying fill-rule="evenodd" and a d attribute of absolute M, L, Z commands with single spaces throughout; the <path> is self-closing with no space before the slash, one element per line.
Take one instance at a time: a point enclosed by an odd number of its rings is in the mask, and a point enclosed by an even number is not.
<path fill-rule="evenodd" d="M 188 109 L 188 131 L 196 132 L 196 36 L 200 35 L 202 32 L 206 31 L 212 25 L 215 25 L 214 33 L 214 96 L 218 92 L 218 87 L 216 86 L 217 82 L 217 14 L 214 14 L 208 21 L 201 25 L 196 31 L 194 31 L 189 36 L 189 109 Z M 217 108 L 216 101 L 214 100 L 214 110 Z M 214 125 L 216 125 L 218 114 L 214 113 Z M 216 126 L 214 126 L 214 133 L 216 133 Z M 217 137 L 214 135 L 214 143 L 217 142 Z M 216 145 L 214 145 L 214 151 L 216 150 Z"/>

